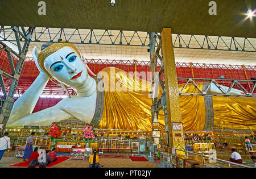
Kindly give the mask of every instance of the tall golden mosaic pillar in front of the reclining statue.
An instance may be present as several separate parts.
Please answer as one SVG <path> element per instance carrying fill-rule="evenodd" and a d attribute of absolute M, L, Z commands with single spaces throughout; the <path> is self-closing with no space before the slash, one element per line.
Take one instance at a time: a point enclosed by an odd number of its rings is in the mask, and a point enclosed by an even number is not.
<path fill-rule="evenodd" d="M 164 82 L 166 86 L 166 105 L 168 117 L 169 143 L 171 147 L 185 149 L 183 125 L 180 111 L 179 86 L 172 45 L 171 28 L 163 28 L 161 32 L 162 55 L 164 64 Z M 175 126 L 175 130 L 173 127 Z M 178 152 L 179 153 L 179 152 Z"/>

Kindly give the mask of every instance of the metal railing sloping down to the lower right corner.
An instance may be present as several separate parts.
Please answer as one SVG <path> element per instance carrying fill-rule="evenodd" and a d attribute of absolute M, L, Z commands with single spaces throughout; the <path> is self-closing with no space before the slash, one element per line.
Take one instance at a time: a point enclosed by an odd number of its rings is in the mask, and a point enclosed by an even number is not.
<path fill-rule="evenodd" d="M 208 165 L 213 168 L 221 168 L 221 167 L 226 167 L 226 166 L 228 166 L 228 168 L 232 168 L 232 166 L 242 167 L 242 168 L 252 168 L 251 166 L 248 166 L 248 165 L 243 165 L 243 164 L 233 163 L 231 161 L 217 159 L 217 157 L 215 158 L 215 157 L 206 156 L 206 155 L 204 155 L 204 151 L 202 151 L 202 154 L 200 154 L 200 153 L 188 152 L 188 151 L 181 150 L 181 149 L 171 148 L 166 145 L 161 145 L 161 148 L 163 148 L 165 152 L 170 153 L 170 155 L 176 154 L 177 151 L 181 151 L 181 152 L 184 152 L 185 156 L 187 156 L 187 157 L 191 157 L 191 156 L 196 156 L 195 158 L 200 157 L 201 160 L 198 160 L 198 159 L 194 159 L 194 160 L 198 161 L 199 163 L 203 164 L 204 166 Z M 167 151 L 166 151 L 166 148 L 168 149 Z M 173 149 L 175 150 L 175 153 L 172 153 Z M 205 159 L 208 159 L 209 163 L 207 163 L 205 161 Z M 215 160 L 216 162 L 213 162 L 213 160 Z"/>

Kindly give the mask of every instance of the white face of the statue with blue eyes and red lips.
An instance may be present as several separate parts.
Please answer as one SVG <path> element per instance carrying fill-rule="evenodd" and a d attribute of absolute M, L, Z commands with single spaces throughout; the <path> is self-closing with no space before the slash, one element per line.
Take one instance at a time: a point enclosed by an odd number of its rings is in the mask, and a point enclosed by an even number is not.
<path fill-rule="evenodd" d="M 83 85 L 88 77 L 84 62 L 71 47 L 63 47 L 49 55 L 44 66 L 53 78 L 73 88 Z"/>

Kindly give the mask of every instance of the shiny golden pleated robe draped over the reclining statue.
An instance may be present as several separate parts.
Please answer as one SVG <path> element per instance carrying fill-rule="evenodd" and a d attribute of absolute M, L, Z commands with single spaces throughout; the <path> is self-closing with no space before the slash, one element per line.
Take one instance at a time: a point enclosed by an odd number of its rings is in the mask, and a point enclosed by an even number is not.
<path fill-rule="evenodd" d="M 117 130 L 152 130 L 151 83 L 118 68 L 105 68 L 100 73 L 104 81 L 104 109 L 98 128 Z M 180 84 L 181 90 L 185 84 Z M 203 82 L 197 84 L 203 89 Z M 159 88 L 160 89 L 160 88 Z M 184 93 L 198 93 L 188 84 Z M 159 90 L 159 97 L 161 90 Z M 214 125 L 248 129 L 256 127 L 256 99 L 243 97 L 212 97 L 213 109 L 205 110 L 203 96 L 180 95 L 184 130 L 203 131 L 208 111 L 213 111 Z M 207 107 L 208 108 L 208 107 Z M 206 117 L 207 116 L 207 117 Z M 164 114 L 159 112 L 159 127 L 164 130 Z M 225 126 L 223 126 L 225 124 Z M 213 124 L 212 124 L 213 126 Z"/>

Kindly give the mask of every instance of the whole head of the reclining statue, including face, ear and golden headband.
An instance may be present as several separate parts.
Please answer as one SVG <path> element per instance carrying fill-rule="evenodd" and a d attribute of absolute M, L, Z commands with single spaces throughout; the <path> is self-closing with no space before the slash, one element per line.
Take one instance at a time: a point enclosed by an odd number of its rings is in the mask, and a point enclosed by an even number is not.
<path fill-rule="evenodd" d="M 80 53 L 73 44 L 53 43 L 42 46 L 37 56 L 40 68 L 49 77 L 76 88 L 85 83 L 88 78 L 86 64 L 82 61 Z M 34 48 L 33 56 L 36 56 Z"/>

